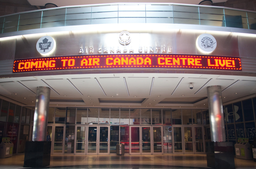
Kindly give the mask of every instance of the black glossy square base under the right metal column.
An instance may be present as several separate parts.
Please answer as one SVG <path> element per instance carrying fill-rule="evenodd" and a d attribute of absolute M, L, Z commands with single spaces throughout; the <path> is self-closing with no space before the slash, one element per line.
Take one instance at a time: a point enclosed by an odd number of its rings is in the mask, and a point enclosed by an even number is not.
<path fill-rule="evenodd" d="M 206 157 L 207 167 L 214 169 L 235 169 L 232 142 L 206 142 Z"/>

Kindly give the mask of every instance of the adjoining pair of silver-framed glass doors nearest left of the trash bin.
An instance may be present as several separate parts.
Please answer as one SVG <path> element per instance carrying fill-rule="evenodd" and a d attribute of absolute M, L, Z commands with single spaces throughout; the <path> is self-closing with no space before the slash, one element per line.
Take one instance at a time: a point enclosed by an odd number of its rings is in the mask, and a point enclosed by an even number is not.
<path fill-rule="evenodd" d="M 109 154 L 109 126 L 88 126 L 86 154 Z"/>

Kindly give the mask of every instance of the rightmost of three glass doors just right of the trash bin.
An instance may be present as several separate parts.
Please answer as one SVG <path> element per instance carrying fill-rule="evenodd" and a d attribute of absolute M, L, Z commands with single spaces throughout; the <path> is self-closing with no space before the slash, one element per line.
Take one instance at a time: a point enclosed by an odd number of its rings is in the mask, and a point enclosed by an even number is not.
<path fill-rule="evenodd" d="M 152 154 L 162 154 L 163 152 L 163 140 L 162 140 L 162 127 L 161 126 L 153 126 L 153 132 L 151 132 L 153 136 L 152 142 L 153 142 L 153 152 Z"/>

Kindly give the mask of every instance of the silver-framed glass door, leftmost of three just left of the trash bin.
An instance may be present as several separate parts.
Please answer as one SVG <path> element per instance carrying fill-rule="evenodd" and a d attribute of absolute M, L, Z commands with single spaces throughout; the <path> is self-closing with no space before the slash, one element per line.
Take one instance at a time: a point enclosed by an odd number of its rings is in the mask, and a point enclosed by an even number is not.
<path fill-rule="evenodd" d="M 75 134 L 75 155 L 84 155 L 86 154 L 86 132 L 87 126 L 76 126 Z"/>

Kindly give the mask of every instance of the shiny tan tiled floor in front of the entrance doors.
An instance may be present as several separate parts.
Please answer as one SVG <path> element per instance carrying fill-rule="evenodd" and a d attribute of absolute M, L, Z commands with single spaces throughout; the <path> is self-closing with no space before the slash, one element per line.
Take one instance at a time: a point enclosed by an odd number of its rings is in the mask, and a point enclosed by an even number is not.
<path fill-rule="evenodd" d="M 1 169 L 23 168 L 24 154 L 0 159 Z M 256 169 L 256 162 L 235 158 L 236 169 Z M 50 166 L 65 169 L 206 169 L 206 154 L 184 155 L 51 155 Z"/>

